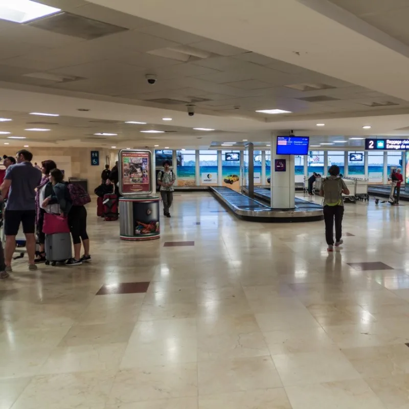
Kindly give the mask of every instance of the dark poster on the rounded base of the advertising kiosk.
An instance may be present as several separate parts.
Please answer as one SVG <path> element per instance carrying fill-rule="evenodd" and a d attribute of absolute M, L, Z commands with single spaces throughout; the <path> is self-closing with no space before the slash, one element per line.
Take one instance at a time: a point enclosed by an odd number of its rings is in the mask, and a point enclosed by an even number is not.
<path fill-rule="evenodd" d="M 156 202 L 138 202 L 133 206 L 134 233 L 138 237 L 154 237 L 160 233 L 159 207 Z"/>

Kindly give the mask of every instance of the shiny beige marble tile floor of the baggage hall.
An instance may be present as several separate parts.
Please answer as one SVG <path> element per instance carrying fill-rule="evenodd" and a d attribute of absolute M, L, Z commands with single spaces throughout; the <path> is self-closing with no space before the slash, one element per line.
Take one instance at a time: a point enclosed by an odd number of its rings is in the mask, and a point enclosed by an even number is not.
<path fill-rule="evenodd" d="M 90 207 L 91 264 L 0 282 L 0 409 L 408 409 L 402 205 L 347 204 L 333 254 L 324 222 L 244 222 L 207 193 L 150 242 Z"/>

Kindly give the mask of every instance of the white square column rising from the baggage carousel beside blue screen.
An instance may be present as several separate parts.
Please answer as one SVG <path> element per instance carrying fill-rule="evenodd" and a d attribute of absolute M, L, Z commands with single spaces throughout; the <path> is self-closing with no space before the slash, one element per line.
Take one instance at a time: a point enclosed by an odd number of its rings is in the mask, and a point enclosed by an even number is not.
<path fill-rule="evenodd" d="M 288 132 L 288 131 L 287 131 Z M 286 133 L 287 133 L 286 132 Z M 285 133 L 282 133 L 285 134 Z M 296 196 L 295 162 L 293 155 L 277 155 L 277 133 L 271 133 L 271 207 L 293 209 Z M 284 172 L 276 172 L 276 160 L 285 160 Z"/>

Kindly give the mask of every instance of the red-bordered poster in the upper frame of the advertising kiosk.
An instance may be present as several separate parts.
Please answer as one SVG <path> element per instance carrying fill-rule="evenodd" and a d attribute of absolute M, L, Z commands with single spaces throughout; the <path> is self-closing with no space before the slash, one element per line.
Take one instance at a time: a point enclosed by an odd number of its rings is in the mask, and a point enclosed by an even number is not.
<path fill-rule="evenodd" d="M 121 150 L 122 194 L 149 193 L 152 191 L 150 177 L 151 153 L 149 151 Z"/>

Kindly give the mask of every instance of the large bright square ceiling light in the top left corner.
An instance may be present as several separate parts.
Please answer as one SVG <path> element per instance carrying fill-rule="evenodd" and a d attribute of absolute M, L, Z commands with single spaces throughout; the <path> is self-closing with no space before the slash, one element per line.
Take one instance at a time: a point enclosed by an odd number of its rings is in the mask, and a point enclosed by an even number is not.
<path fill-rule="evenodd" d="M 31 0 L 0 0 L 0 18 L 13 22 L 27 22 L 60 11 L 55 7 Z"/>

